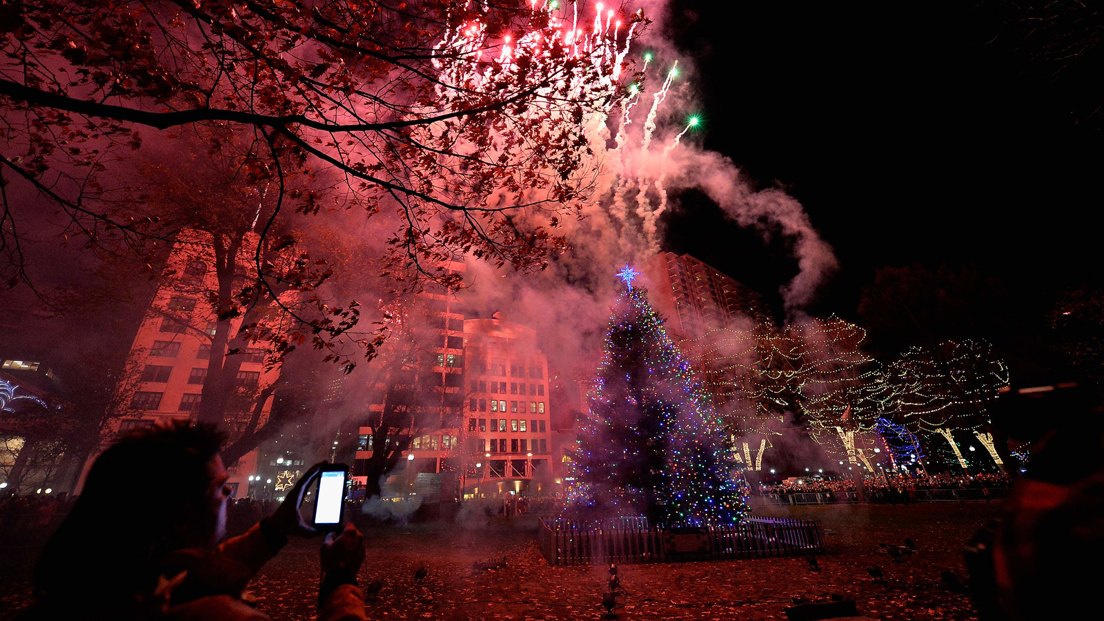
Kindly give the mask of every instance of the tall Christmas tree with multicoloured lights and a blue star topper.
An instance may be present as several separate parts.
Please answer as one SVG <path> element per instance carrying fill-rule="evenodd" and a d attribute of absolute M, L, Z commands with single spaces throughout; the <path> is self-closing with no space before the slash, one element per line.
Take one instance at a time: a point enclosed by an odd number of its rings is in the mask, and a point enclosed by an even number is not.
<path fill-rule="evenodd" d="M 747 515 L 722 422 L 690 362 L 667 336 L 629 266 L 582 423 L 572 499 L 644 513 L 669 526 L 732 524 Z"/>

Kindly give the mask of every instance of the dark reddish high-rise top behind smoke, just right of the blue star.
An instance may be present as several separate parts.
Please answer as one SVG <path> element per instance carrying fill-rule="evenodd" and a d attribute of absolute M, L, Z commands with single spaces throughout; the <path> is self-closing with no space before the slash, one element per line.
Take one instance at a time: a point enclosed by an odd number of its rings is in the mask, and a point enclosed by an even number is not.
<path fill-rule="evenodd" d="M 677 338 L 731 327 L 740 317 L 768 316 L 763 296 L 689 254 L 661 252 L 645 264 L 648 299 Z"/>

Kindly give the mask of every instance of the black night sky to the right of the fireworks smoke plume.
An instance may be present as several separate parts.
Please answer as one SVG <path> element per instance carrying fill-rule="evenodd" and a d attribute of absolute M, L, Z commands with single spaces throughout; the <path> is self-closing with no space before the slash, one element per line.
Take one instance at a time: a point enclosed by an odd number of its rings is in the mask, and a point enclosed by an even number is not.
<path fill-rule="evenodd" d="M 797 198 L 835 248 L 814 313 L 852 316 L 881 265 L 973 264 L 1028 291 L 1098 278 L 1104 63 L 1039 59 L 1080 22 L 1026 36 L 1000 3 L 694 4 L 666 30 L 698 62 L 697 139 Z M 778 242 L 683 206 L 669 250 L 767 295 L 796 273 Z"/>

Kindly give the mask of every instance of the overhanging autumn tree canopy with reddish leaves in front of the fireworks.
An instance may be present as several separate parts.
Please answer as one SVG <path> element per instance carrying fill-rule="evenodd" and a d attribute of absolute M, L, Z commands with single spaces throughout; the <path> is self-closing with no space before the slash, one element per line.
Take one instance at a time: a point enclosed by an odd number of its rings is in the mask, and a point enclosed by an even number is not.
<path fill-rule="evenodd" d="M 542 267 L 563 248 L 553 231 L 559 219 L 577 213 L 594 178 L 581 166 L 584 126 L 594 112 L 605 118 L 623 93 L 625 54 L 644 21 L 611 11 L 583 34 L 571 17 L 577 7 L 556 7 L 6 4 L 0 246 L 8 285 L 23 276 L 19 244 L 33 223 L 22 218 L 43 200 L 71 219 L 68 236 L 92 246 L 177 241 L 160 213 L 135 213 L 119 200 L 119 179 L 149 154 L 176 152 L 189 134 L 203 136 L 212 158 L 225 157 L 229 135 L 244 138 L 234 151 L 246 157 L 234 167 L 270 203 L 258 249 L 283 244 L 268 239 L 280 213 L 359 209 L 392 214 L 375 240 L 390 248 L 381 270 L 407 281 L 455 284 L 458 276 L 435 265 L 457 254 Z M 17 200 L 32 193 L 30 207 Z M 253 261 L 262 285 L 287 278 L 287 267 L 269 265 L 264 253 Z M 254 287 L 224 299 L 250 298 Z M 373 339 L 349 336 L 354 306 L 316 308 L 296 317 L 315 347 L 349 338 L 373 352 Z"/>

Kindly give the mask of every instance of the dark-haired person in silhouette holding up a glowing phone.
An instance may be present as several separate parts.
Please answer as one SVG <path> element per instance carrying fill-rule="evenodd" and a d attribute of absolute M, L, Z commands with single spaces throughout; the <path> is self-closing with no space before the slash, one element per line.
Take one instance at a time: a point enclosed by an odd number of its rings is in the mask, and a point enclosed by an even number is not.
<path fill-rule="evenodd" d="M 221 541 L 231 495 L 223 441 L 213 425 L 178 422 L 100 454 L 42 551 L 22 619 L 267 620 L 243 590 L 288 537 L 321 535 L 299 505 L 330 464 L 308 470 L 272 516 Z M 364 620 L 363 538 L 351 524 L 326 528 L 318 619 Z"/>

